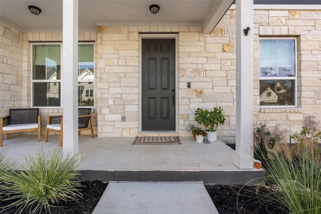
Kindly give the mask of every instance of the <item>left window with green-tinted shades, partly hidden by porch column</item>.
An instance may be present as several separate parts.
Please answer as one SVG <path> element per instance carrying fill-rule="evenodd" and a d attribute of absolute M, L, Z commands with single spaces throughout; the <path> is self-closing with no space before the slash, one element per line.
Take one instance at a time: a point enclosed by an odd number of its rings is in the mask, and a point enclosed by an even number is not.
<path fill-rule="evenodd" d="M 32 44 L 32 101 L 61 106 L 62 44 Z M 78 106 L 94 106 L 94 45 L 78 45 Z M 88 93 L 87 93 L 88 92 Z"/>

